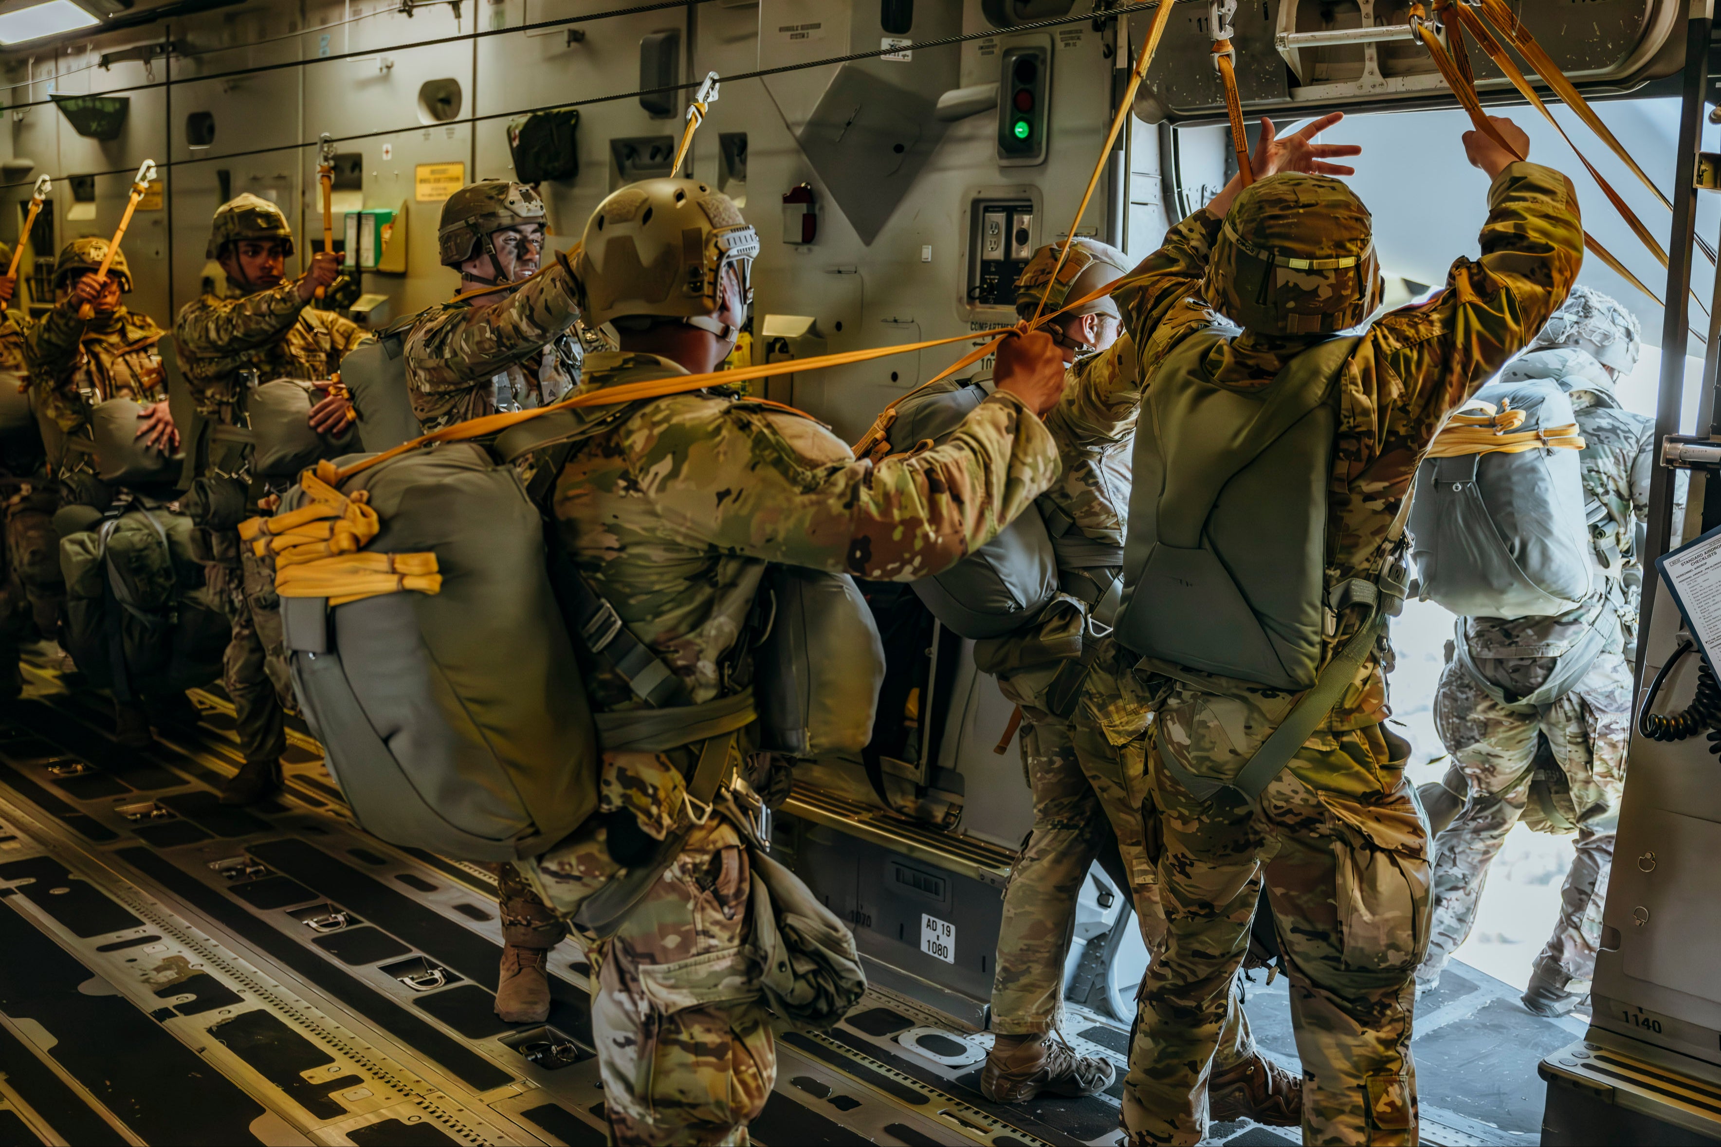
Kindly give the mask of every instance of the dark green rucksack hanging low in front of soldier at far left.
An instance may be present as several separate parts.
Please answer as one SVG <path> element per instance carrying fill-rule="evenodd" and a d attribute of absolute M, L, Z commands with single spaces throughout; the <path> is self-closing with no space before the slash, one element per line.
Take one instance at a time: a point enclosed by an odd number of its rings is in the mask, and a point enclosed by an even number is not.
<path fill-rule="evenodd" d="M 203 585 L 191 518 L 145 497 L 79 509 L 88 528 L 60 540 L 64 641 L 77 669 L 122 702 L 220 679 L 229 623 Z"/>

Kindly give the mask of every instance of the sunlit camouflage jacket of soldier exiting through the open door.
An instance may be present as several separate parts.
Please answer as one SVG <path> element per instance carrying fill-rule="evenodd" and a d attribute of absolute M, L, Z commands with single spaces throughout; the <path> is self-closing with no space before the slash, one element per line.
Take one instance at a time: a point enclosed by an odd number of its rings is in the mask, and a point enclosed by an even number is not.
<path fill-rule="evenodd" d="M 1607 566 L 1597 590 L 1575 609 L 1556 617 L 1466 617 L 1465 643 L 1477 667 L 1496 684 L 1523 696 L 1533 693 L 1554 671 L 1561 653 L 1592 624 L 1625 635 L 1637 629 L 1642 564 L 1635 554 L 1633 523 L 1649 521 L 1649 478 L 1656 468 L 1656 420 L 1619 406 L 1607 371 L 1587 351 L 1549 347 L 1514 359 L 1501 371 L 1502 382 L 1554 378 L 1571 396 L 1583 451 L 1583 495 L 1599 502 L 1607 516 L 1590 528 L 1590 540 Z M 1609 616 L 1611 614 L 1611 616 Z M 1609 638 L 1616 650 L 1621 640 Z"/>

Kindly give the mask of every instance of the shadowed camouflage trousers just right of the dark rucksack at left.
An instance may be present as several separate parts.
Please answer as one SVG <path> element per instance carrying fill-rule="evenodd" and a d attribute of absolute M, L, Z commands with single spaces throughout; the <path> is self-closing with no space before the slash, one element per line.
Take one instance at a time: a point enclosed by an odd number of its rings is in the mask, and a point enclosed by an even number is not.
<path fill-rule="evenodd" d="M 287 751 L 286 714 L 293 708 L 281 598 L 270 566 L 237 535 L 232 543 L 239 550 L 239 567 L 207 566 L 210 588 L 232 623 L 220 683 L 232 700 L 239 753 L 246 762 L 275 762 Z"/>

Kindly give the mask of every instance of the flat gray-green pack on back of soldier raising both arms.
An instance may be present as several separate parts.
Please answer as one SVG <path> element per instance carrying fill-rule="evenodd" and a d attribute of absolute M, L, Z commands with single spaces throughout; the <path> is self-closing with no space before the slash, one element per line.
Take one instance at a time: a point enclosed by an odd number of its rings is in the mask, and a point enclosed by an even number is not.
<path fill-rule="evenodd" d="M 1231 332 L 1177 344 L 1136 430 L 1117 640 L 1136 653 L 1279 690 L 1322 667 L 1334 383 L 1354 337 L 1231 389 L 1203 361 Z"/>

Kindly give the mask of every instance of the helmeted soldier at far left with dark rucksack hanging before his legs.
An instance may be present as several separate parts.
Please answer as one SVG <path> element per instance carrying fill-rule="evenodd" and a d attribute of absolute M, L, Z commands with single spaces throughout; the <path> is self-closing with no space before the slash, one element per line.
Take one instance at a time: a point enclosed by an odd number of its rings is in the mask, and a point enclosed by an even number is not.
<path fill-rule="evenodd" d="M 95 439 L 89 413 L 108 399 L 133 399 L 138 437 L 165 452 L 179 445 L 179 430 L 167 411 L 167 375 L 157 342 L 167 332 L 153 318 L 127 308 L 120 296 L 131 291 L 126 253 L 115 251 L 105 279 L 98 279 L 107 256 L 107 239 L 72 239 L 53 263 L 53 310 L 41 316 L 24 339 L 29 363 L 31 401 L 41 421 L 48 469 L 71 495 L 95 476 Z M 89 308 L 89 318 L 83 318 Z M 120 745 L 143 748 L 153 739 L 150 714 L 184 717 L 189 702 L 151 698 L 114 700 L 115 736 Z"/>

